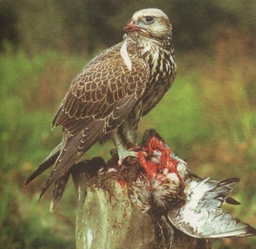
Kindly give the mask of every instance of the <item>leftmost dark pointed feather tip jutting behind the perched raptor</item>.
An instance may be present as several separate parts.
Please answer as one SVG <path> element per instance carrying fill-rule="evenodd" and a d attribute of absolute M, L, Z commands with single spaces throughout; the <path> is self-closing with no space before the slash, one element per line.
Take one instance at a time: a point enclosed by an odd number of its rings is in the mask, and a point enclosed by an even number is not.
<path fill-rule="evenodd" d="M 38 168 L 32 173 L 32 175 L 26 180 L 25 185 L 29 184 L 34 178 L 42 174 L 46 169 L 50 168 L 53 164 L 55 164 L 57 158 L 59 157 L 59 154 L 61 152 L 61 144 L 57 145 L 56 148 L 53 149 L 53 151 L 50 153 L 48 158 L 45 159 L 45 161 L 42 162 L 38 166 Z"/>

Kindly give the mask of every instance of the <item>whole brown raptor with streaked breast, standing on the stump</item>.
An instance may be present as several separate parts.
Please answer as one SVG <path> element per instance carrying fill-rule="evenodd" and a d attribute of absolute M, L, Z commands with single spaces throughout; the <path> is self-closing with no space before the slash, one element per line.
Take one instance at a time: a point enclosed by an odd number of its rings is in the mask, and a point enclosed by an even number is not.
<path fill-rule="evenodd" d="M 70 168 L 99 139 L 113 139 L 119 164 L 135 156 L 129 149 L 135 145 L 140 118 L 173 83 L 176 64 L 167 15 L 142 9 L 124 29 L 123 42 L 97 55 L 75 77 L 53 119 L 53 127 L 62 126 L 62 141 L 26 181 L 54 164 L 42 194 L 55 183 L 53 199 L 59 199 Z"/>

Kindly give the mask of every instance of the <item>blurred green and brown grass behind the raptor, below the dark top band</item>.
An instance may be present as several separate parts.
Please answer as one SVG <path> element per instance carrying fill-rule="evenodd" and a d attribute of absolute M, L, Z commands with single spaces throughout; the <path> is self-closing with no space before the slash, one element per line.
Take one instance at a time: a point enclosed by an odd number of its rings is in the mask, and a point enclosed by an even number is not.
<path fill-rule="evenodd" d="M 255 226 L 256 61 L 244 47 L 244 53 L 236 53 L 236 61 L 227 64 L 222 43 L 214 57 L 179 55 L 176 82 L 143 118 L 140 137 L 145 129 L 157 129 L 202 177 L 241 177 L 233 195 L 241 205 L 230 212 Z M 10 45 L 0 54 L 0 244 L 6 248 L 75 247 L 72 183 L 54 214 L 48 212 L 50 191 L 37 203 L 49 172 L 26 188 L 23 183 L 59 142 L 60 129 L 51 131 L 50 122 L 86 61 L 53 50 L 29 56 Z M 94 145 L 86 156 L 107 158 L 111 147 Z M 253 248 L 256 240 L 219 240 L 214 245 Z"/>

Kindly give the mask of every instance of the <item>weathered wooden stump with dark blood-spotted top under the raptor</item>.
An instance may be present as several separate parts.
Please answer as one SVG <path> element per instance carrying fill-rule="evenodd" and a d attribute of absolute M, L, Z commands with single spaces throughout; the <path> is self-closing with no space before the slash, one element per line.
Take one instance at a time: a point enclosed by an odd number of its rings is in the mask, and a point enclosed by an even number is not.
<path fill-rule="evenodd" d="M 148 139 L 148 134 L 143 141 Z M 83 161 L 72 169 L 78 197 L 77 248 L 211 248 L 208 240 L 178 231 L 164 212 L 143 213 L 132 204 L 132 182 L 142 168 L 138 158 L 117 165 L 102 158 Z"/>

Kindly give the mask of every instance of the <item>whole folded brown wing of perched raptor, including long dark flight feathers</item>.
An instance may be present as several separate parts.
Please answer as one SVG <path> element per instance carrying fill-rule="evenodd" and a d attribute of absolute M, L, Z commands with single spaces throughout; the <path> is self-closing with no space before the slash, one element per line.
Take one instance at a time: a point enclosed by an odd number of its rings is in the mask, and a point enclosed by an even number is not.
<path fill-rule="evenodd" d="M 75 78 L 53 119 L 53 126 L 64 128 L 64 148 L 42 194 L 98 139 L 124 121 L 142 96 L 148 74 L 145 61 L 132 59 L 129 71 L 119 55 L 89 64 Z"/>

